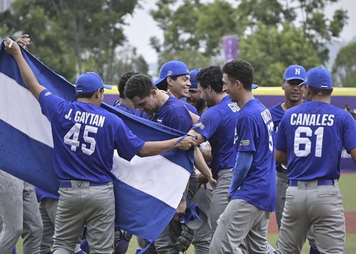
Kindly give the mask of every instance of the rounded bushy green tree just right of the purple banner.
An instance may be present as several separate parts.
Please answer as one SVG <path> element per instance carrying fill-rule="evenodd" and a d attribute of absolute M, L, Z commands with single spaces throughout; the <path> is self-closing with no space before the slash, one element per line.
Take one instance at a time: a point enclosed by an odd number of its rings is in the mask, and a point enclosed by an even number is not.
<path fill-rule="evenodd" d="M 262 86 L 280 85 L 285 68 L 291 64 L 300 64 L 306 70 L 320 65 L 313 45 L 304 40 L 302 29 L 287 22 L 280 31 L 258 25 L 255 33 L 241 39 L 240 58 L 254 66 L 254 82 Z"/>

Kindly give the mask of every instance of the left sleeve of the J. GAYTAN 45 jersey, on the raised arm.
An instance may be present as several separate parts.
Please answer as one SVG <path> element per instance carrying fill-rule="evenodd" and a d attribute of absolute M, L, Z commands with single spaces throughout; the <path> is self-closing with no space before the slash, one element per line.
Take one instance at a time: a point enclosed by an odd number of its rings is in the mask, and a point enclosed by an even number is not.
<path fill-rule="evenodd" d="M 65 100 L 52 94 L 49 90 L 44 89 L 39 94 L 39 105 L 41 106 L 42 114 L 47 117 L 47 119 L 52 122 L 52 118 L 56 113 L 56 109 L 63 103 Z"/>

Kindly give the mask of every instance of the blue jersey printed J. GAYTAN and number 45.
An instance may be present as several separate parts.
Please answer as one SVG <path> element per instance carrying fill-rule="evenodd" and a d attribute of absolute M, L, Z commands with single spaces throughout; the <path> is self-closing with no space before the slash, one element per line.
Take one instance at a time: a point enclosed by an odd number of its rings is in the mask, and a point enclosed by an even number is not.
<path fill-rule="evenodd" d="M 144 145 L 120 118 L 94 104 L 66 102 L 47 89 L 39 103 L 51 123 L 59 179 L 110 182 L 114 149 L 131 160 Z"/>

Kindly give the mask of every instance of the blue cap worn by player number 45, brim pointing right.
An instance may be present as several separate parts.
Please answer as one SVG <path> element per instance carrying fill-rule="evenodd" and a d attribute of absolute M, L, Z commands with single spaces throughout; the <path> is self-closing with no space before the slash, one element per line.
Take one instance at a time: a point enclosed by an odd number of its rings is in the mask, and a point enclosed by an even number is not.
<path fill-rule="evenodd" d="M 98 74 L 92 72 L 85 72 L 75 81 L 75 93 L 87 94 L 93 93 L 100 88 L 112 89 L 112 86 L 105 85 Z"/>

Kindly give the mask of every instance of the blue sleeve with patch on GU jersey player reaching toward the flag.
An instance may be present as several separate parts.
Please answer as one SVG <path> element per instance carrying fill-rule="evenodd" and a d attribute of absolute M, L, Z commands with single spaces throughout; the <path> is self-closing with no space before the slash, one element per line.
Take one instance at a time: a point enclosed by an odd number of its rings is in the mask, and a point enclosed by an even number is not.
<path fill-rule="evenodd" d="M 216 132 L 219 127 L 219 114 L 215 110 L 206 110 L 192 129 L 202 134 L 207 140 Z"/>

